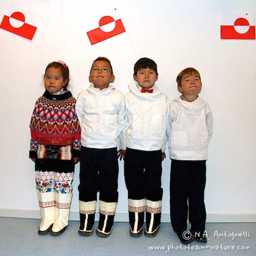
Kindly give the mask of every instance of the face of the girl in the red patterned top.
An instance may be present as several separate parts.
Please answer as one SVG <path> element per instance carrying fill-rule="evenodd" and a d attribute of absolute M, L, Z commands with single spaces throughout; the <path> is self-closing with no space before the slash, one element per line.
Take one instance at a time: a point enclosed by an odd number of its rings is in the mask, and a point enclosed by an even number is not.
<path fill-rule="evenodd" d="M 50 93 L 57 93 L 67 80 L 63 79 L 60 68 L 50 67 L 46 70 L 44 76 L 44 88 Z"/>

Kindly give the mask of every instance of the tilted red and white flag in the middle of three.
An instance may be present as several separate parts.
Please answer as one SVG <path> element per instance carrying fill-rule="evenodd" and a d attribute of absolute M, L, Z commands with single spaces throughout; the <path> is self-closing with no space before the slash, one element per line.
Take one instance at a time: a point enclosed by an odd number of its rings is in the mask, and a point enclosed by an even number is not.
<path fill-rule="evenodd" d="M 106 14 L 102 15 L 99 19 L 95 16 L 94 22 L 98 26 L 96 25 L 96 28 L 94 26 L 93 30 L 87 32 L 92 45 L 125 32 L 123 22 L 118 18 L 117 10 L 115 10 L 115 13 L 107 11 L 104 13 Z"/>

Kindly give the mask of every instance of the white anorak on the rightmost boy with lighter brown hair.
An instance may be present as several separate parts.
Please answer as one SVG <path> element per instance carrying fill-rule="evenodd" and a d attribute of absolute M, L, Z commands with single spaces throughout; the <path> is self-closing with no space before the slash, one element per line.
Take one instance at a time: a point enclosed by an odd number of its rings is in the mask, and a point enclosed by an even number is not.
<path fill-rule="evenodd" d="M 198 97 L 187 102 L 180 97 L 170 103 L 169 154 L 176 160 L 206 160 L 212 137 L 210 106 Z"/>

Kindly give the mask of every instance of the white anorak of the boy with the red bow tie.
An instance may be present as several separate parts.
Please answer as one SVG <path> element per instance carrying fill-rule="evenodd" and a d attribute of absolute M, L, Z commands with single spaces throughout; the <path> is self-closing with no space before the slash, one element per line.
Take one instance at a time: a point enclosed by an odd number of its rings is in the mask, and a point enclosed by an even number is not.
<path fill-rule="evenodd" d="M 124 133 L 125 142 L 120 148 L 164 152 L 167 142 L 168 97 L 155 84 L 153 93 L 141 93 L 135 80 L 131 81 L 128 88 L 130 92 L 125 95 L 128 129 Z"/>

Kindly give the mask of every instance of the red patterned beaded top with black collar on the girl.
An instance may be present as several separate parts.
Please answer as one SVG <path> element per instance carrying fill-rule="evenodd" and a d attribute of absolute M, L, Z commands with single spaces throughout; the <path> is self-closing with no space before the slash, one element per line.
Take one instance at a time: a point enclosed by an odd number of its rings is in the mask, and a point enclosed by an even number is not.
<path fill-rule="evenodd" d="M 35 102 L 31 117 L 30 158 L 36 158 L 38 145 L 73 146 L 79 156 L 80 125 L 75 112 L 75 98 L 70 91 L 54 95 L 45 91 Z"/>

